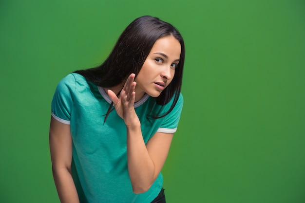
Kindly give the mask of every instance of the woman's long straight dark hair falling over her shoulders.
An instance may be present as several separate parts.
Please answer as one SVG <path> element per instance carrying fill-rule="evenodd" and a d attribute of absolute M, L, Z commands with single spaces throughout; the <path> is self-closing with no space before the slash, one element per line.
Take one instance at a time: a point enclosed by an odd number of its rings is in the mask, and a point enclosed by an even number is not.
<path fill-rule="evenodd" d="M 185 58 L 184 40 L 178 30 L 170 23 L 159 18 L 142 16 L 133 20 L 118 38 L 108 58 L 99 66 L 76 71 L 97 86 L 112 88 L 125 82 L 132 73 L 137 75 L 149 55 L 155 41 L 172 35 L 181 45 L 180 61 L 170 85 L 155 98 L 156 104 L 165 105 L 173 98 L 169 111 L 163 115 L 151 115 L 150 118 L 161 118 L 169 114 L 178 101 L 181 91 L 183 66 Z M 112 105 L 111 105 L 112 106 Z M 111 107 L 106 114 L 106 118 Z M 105 118 L 105 119 L 106 119 Z"/>

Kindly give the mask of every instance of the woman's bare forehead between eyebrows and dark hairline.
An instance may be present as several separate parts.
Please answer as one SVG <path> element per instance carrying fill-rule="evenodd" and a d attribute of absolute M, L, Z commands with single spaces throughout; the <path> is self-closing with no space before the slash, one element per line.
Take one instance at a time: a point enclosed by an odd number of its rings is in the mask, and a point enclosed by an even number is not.
<path fill-rule="evenodd" d="M 181 54 L 181 45 L 180 42 L 171 36 L 161 37 L 155 41 L 152 46 L 150 54 L 153 53 L 163 53 L 171 58 L 179 59 Z"/>

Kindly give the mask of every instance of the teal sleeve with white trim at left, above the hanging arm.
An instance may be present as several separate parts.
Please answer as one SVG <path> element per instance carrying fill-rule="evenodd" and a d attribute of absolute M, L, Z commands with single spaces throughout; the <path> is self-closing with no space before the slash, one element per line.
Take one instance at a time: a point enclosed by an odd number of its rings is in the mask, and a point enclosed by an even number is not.
<path fill-rule="evenodd" d="M 76 80 L 73 74 L 64 77 L 57 85 L 51 111 L 52 116 L 61 123 L 70 124 L 75 89 Z"/>

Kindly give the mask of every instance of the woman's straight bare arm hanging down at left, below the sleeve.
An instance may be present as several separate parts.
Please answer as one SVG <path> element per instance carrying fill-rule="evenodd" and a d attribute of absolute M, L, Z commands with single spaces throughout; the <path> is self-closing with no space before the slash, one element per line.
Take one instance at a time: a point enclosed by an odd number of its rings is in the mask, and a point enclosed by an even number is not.
<path fill-rule="evenodd" d="M 53 178 L 61 203 L 79 203 L 71 173 L 72 138 L 70 125 L 51 117 L 50 152 Z"/>

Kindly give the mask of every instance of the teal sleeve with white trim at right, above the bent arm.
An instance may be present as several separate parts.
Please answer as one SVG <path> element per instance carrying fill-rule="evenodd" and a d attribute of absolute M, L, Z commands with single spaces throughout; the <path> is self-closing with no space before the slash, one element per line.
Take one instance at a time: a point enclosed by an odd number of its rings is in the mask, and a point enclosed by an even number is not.
<path fill-rule="evenodd" d="M 170 105 L 172 105 L 172 101 L 170 102 Z M 183 107 L 183 96 L 180 93 L 175 107 L 168 115 L 165 116 L 165 118 L 164 118 L 160 128 L 157 130 L 157 132 L 165 132 L 165 133 L 176 132 L 178 123 L 180 120 L 182 107 Z"/>

